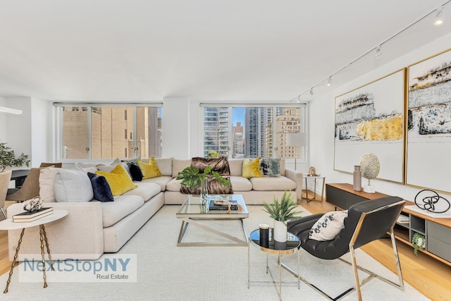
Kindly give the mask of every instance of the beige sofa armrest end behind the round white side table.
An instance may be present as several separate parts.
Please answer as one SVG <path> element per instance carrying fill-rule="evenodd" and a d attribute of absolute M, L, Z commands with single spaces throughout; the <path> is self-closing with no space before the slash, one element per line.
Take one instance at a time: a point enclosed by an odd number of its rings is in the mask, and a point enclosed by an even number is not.
<path fill-rule="evenodd" d="M 100 202 L 45 202 L 44 206 L 68 211 L 63 219 L 45 225 L 52 259 L 99 259 L 104 253 Z M 23 204 L 12 204 L 7 208 L 8 217 L 20 212 L 23 212 Z M 13 260 L 19 237 L 20 230 L 8 231 L 10 261 Z M 20 254 L 29 254 L 27 259 L 41 258 L 38 226 L 25 229 Z"/>

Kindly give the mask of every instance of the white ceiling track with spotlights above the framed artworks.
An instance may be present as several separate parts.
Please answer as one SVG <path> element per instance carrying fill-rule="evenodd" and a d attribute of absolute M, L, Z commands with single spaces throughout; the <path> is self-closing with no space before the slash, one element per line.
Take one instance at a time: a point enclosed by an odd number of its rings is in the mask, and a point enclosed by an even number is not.
<path fill-rule="evenodd" d="M 302 97 L 302 95 L 307 94 L 308 92 L 310 92 L 310 94 L 313 95 L 314 94 L 313 88 L 319 86 L 321 83 L 325 82 L 326 80 L 327 80 L 327 85 L 330 86 L 329 84 L 332 81 L 332 76 L 333 75 L 336 75 L 337 73 L 340 73 L 342 70 L 344 70 L 345 68 L 351 66 L 353 63 L 359 61 L 364 56 L 370 54 L 373 51 L 376 51 L 375 56 L 376 56 L 377 59 L 379 59 L 382 56 L 381 48 L 382 48 L 383 44 L 385 44 L 386 42 L 390 41 L 391 39 L 394 39 L 398 35 L 401 35 L 402 32 L 408 30 L 410 27 L 412 27 L 412 26 L 416 25 L 417 23 L 421 22 L 422 20 L 424 20 L 428 16 L 431 16 L 431 14 L 435 13 L 434 25 L 437 25 L 437 26 L 438 25 L 442 25 L 443 22 L 444 22 L 445 5 L 449 4 L 450 2 L 451 2 L 451 0 L 445 1 L 445 3 L 441 4 L 438 8 L 435 8 L 433 11 L 430 11 L 429 13 L 426 13 L 426 15 L 424 15 L 423 17 L 421 17 L 418 20 L 414 21 L 413 23 L 407 25 L 407 27 L 404 27 L 404 29 L 400 30 L 399 32 L 396 32 L 395 35 L 392 35 L 392 36 L 388 37 L 388 39 L 385 39 L 385 41 L 379 43 L 376 47 L 373 47 L 373 48 L 369 49 L 369 51 L 366 51 L 364 54 L 362 54 L 361 56 L 357 57 L 357 59 L 354 59 L 350 63 L 347 63 L 347 65 L 342 66 L 342 68 L 336 70 L 334 73 L 330 74 L 327 78 L 324 78 L 323 80 L 320 80 L 319 82 L 316 82 L 316 84 L 313 85 L 313 87 L 311 87 L 309 90 L 305 90 L 301 94 L 297 95 L 297 97 L 291 99 L 290 102 L 295 102 L 295 101 L 299 102 L 299 98 Z M 440 22 L 440 20 L 441 20 L 441 22 Z M 437 24 L 437 23 L 439 23 L 439 24 Z"/>

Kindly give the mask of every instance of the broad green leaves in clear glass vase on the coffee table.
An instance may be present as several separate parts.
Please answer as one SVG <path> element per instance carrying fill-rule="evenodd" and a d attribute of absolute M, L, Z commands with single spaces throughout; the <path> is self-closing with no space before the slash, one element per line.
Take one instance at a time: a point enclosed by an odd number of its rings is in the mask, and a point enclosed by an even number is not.
<path fill-rule="evenodd" d="M 208 189 L 206 187 L 206 178 L 208 178 L 209 175 L 214 176 L 219 183 L 226 186 L 226 188 L 230 188 L 230 180 L 227 180 L 226 178 L 223 178 L 217 171 L 212 171 L 211 166 L 206 166 L 204 168 L 204 172 L 201 173 L 199 169 L 195 167 L 187 167 L 183 169 L 183 171 L 180 171 L 177 175 L 177 180 L 182 180 L 182 185 L 186 186 L 187 188 L 195 189 L 199 185 L 201 185 L 201 199 L 202 202 L 206 202 L 208 198 Z"/>

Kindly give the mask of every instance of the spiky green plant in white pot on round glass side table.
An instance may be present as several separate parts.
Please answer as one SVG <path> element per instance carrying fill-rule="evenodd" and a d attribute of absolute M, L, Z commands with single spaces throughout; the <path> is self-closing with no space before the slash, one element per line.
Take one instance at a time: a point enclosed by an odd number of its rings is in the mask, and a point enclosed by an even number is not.
<path fill-rule="evenodd" d="M 263 202 L 264 211 L 266 211 L 271 219 L 274 219 L 274 240 L 278 242 L 287 241 L 287 224 L 286 221 L 301 217 L 302 211 L 295 211 L 297 202 L 294 197 L 287 191 L 283 192 L 280 203 L 276 197 L 273 198 L 273 203 L 268 204 Z"/>

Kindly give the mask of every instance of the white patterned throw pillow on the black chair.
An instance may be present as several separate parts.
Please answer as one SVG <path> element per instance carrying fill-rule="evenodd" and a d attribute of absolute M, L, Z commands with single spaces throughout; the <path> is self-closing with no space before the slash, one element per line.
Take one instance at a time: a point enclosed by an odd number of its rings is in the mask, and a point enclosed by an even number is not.
<path fill-rule="evenodd" d="M 319 241 L 333 240 L 340 233 L 341 229 L 345 228 L 344 221 L 346 217 L 347 210 L 331 211 L 324 214 L 311 227 L 309 238 Z"/>

